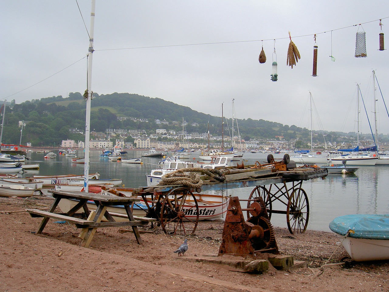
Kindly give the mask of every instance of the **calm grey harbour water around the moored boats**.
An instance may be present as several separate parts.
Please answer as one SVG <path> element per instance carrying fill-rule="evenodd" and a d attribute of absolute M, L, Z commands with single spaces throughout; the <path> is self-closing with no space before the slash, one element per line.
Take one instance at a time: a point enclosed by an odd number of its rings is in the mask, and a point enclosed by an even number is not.
<path fill-rule="evenodd" d="M 57 150 L 58 151 L 58 150 Z M 140 157 L 145 151 L 129 151 L 127 158 Z M 100 178 L 121 178 L 126 187 L 146 186 L 145 174 L 149 173 L 149 164 L 158 164 L 160 158 L 143 157 L 144 164 L 122 164 L 100 158 L 100 151 L 91 151 L 89 173 L 99 172 Z M 80 153 L 83 156 L 83 153 Z M 26 164 L 39 163 L 40 169 L 26 172 L 24 176 L 83 174 L 84 165 L 74 164 L 70 158 L 44 158 L 45 153 L 28 153 L 30 160 Z M 198 155 L 198 153 L 197 153 Z M 191 160 L 198 161 L 196 154 Z M 246 165 L 256 161 L 263 164 L 266 153 L 245 153 Z M 274 154 L 282 158 L 283 155 Z M 193 159 L 195 158 L 195 159 Z M 156 167 L 155 167 L 156 168 Z M 355 174 L 330 174 L 325 179 L 304 181 L 302 188 L 307 192 L 310 216 L 308 229 L 329 231 L 328 224 L 337 216 L 347 214 L 388 214 L 389 213 L 389 166 L 361 166 Z M 247 199 L 252 188 L 236 188 L 223 191 L 240 199 Z M 286 210 L 286 206 L 273 203 L 273 209 Z M 286 215 L 273 214 L 272 224 L 286 227 Z"/>

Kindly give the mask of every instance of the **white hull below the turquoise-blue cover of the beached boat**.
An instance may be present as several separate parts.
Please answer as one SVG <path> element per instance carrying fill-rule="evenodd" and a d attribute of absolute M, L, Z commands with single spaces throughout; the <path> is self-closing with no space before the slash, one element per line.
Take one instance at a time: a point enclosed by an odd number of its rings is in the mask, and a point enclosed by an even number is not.
<path fill-rule="evenodd" d="M 389 260 L 389 239 L 365 239 L 346 237 L 336 233 L 350 258 L 362 262 L 366 260 Z"/>

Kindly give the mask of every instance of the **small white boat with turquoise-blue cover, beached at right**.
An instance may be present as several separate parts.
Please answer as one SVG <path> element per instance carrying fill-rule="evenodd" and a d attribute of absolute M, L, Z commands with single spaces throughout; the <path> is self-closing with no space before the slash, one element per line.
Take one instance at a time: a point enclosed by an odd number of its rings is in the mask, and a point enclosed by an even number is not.
<path fill-rule="evenodd" d="M 389 215 L 345 215 L 329 223 L 355 261 L 389 260 Z"/>

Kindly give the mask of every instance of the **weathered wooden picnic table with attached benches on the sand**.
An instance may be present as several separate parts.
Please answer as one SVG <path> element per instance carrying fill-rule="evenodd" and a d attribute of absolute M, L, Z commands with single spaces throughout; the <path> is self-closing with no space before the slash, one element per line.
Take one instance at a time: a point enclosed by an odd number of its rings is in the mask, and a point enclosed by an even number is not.
<path fill-rule="evenodd" d="M 39 225 L 38 230 L 35 234 L 42 233 L 47 222 L 50 218 L 67 221 L 73 223 L 77 228 L 82 229 L 80 238 L 82 239 L 79 246 L 88 247 L 92 241 L 93 235 L 96 232 L 97 228 L 102 227 L 125 227 L 131 226 L 135 238 L 137 239 L 138 244 L 142 244 L 143 241 L 140 238 L 138 231 L 138 226 L 147 225 L 151 221 L 155 221 L 153 218 L 145 217 L 134 217 L 131 212 L 131 204 L 133 202 L 138 202 L 140 199 L 132 197 L 117 197 L 117 196 L 107 196 L 95 193 L 85 193 L 85 192 L 63 192 L 63 191 L 49 191 L 53 194 L 53 204 L 48 211 L 42 211 L 38 209 L 28 209 L 28 213 L 32 217 L 43 217 L 42 222 Z M 71 208 L 67 213 L 54 213 L 54 210 L 58 206 L 58 203 L 63 199 L 75 199 L 77 204 Z M 87 202 L 93 201 L 96 204 L 96 211 L 89 211 Z M 124 206 L 126 210 L 128 221 L 116 222 L 112 215 L 117 216 L 115 213 L 111 214 L 107 211 L 107 207 L 115 206 Z M 75 217 L 76 212 L 82 209 L 87 216 L 87 219 Z M 123 215 L 125 216 L 125 215 Z M 123 217 L 122 216 L 122 217 Z M 103 217 L 108 222 L 101 222 Z"/>

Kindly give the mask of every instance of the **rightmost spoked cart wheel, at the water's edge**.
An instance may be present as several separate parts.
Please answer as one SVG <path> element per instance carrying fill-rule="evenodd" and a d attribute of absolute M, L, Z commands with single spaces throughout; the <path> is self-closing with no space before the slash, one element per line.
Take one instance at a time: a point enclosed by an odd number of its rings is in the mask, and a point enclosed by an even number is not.
<path fill-rule="evenodd" d="M 296 188 L 289 197 L 286 207 L 286 223 L 291 234 L 304 233 L 309 219 L 309 202 L 305 190 Z"/>

